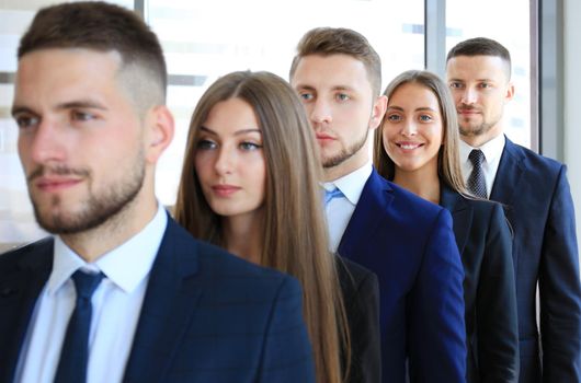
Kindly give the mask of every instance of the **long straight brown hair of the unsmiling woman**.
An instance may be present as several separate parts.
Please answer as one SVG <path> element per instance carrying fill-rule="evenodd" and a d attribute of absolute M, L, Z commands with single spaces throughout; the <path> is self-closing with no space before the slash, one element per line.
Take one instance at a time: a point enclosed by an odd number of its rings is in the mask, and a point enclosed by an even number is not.
<path fill-rule="evenodd" d="M 341 382 L 349 335 L 334 256 L 328 249 L 322 167 L 303 105 L 286 81 L 269 72 L 233 72 L 205 92 L 190 124 L 175 219 L 194 236 L 224 246 L 220 217 L 204 198 L 194 160 L 200 127 L 210 109 L 233 97 L 254 109 L 262 130 L 266 182 L 260 264 L 300 281 L 317 382 Z"/>

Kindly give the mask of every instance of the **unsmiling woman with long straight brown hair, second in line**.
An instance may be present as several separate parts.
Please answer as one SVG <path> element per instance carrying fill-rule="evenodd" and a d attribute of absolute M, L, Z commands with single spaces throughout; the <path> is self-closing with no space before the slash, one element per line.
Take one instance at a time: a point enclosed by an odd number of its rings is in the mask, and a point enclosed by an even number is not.
<path fill-rule="evenodd" d="M 175 218 L 194 236 L 299 280 L 317 382 L 339 383 L 350 364 L 360 365 L 349 362 L 354 332 L 346 316 L 371 323 L 365 327 L 377 321 L 377 306 L 352 315 L 353 297 L 363 285 L 377 293 L 377 286 L 328 251 L 318 159 L 303 105 L 283 79 L 227 74 L 192 116 Z M 362 272 L 364 282 L 354 277 Z M 367 349 L 378 353 L 375 338 Z"/>

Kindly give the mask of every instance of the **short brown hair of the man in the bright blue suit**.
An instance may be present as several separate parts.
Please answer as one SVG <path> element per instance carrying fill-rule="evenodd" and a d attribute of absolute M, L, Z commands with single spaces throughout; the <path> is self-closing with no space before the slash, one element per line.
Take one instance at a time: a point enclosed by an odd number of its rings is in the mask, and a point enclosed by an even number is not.
<path fill-rule="evenodd" d="M 353 30 L 319 27 L 307 32 L 297 46 L 297 54 L 290 65 L 290 79 L 298 62 L 309 55 L 348 55 L 365 65 L 375 96 L 381 91 L 381 59 L 369 42 Z"/>

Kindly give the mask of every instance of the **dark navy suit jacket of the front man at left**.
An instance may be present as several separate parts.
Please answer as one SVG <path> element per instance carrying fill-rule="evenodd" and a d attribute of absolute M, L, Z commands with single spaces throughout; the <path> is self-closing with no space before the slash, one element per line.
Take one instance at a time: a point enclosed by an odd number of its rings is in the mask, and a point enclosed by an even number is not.
<path fill-rule="evenodd" d="M 52 264 L 52 239 L 0 256 L 0 382 L 13 381 Z M 298 282 L 198 242 L 169 218 L 123 382 L 296 383 L 314 374 Z"/>

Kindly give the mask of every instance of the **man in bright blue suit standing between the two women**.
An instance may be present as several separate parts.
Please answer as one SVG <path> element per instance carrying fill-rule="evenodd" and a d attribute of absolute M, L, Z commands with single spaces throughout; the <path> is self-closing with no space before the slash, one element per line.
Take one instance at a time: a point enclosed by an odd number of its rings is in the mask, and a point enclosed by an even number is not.
<path fill-rule="evenodd" d="M 464 382 L 464 271 L 451 214 L 369 162 L 369 131 L 387 104 L 379 56 L 354 31 L 315 28 L 298 44 L 290 84 L 320 148 L 331 251 L 379 278 L 383 382 L 408 373 Z"/>

